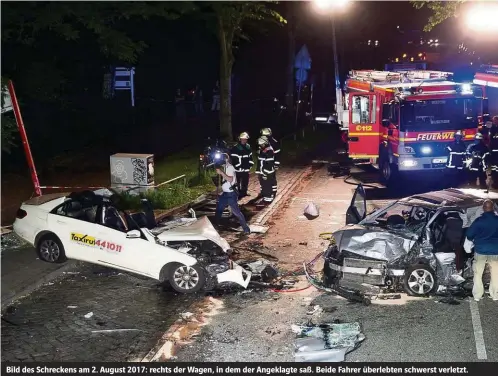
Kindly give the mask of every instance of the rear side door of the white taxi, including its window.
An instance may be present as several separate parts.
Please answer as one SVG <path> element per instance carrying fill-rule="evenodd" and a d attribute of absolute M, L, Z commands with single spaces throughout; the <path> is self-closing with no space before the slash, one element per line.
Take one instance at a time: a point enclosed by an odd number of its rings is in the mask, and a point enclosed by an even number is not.
<path fill-rule="evenodd" d="M 91 261 L 94 257 L 95 229 L 87 221 L 81 203 L 67 200 L 54 208 L 47 217 L 48 230 L 62 242 L 70 259 Z"/>

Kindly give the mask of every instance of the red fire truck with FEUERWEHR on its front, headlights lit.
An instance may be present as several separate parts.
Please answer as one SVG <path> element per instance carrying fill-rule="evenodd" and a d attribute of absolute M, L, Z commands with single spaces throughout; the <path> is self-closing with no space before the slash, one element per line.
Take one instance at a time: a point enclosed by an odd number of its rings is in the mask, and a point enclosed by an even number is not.
<path fill-rule="evenodd" d="M 349 157 L 378 165 L 388 186 L 403 175 L 444 170 L 455 131 L 467 144 L 478 131 L 483 90 L 453 81 L 452 73 L 353 70 L 345 89 Z"/>

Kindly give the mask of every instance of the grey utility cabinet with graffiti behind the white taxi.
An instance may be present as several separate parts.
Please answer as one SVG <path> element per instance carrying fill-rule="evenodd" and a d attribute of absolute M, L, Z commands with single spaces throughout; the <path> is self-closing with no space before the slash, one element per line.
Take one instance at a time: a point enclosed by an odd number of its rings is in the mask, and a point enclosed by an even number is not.
<path fill-rule="evenodd" d="M 111 188 L 141 193 L 154 187 L 154 154 L 111 155 Z"/>

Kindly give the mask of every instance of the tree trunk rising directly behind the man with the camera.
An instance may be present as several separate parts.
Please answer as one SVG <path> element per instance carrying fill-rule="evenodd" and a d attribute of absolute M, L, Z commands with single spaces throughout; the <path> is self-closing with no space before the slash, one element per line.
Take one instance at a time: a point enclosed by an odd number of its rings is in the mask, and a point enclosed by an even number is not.
<path fill-rule="evenodd" d="M 230 81 L 232 79 L 233 54 L 232 41 L 233 32 L 226 30 L 221 17 L 218 17 L 218 39 L 220 42 L 220 132 L 221 136 L 233 141 L 232 132 L 232 92 Z"/>

